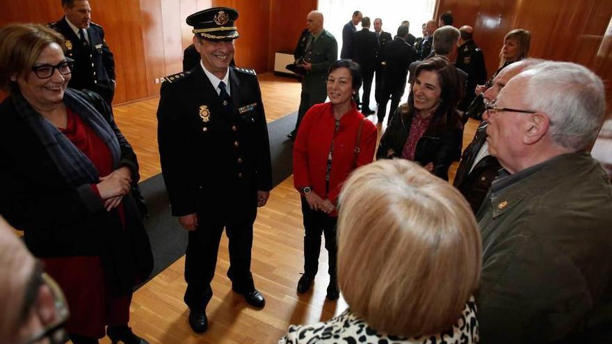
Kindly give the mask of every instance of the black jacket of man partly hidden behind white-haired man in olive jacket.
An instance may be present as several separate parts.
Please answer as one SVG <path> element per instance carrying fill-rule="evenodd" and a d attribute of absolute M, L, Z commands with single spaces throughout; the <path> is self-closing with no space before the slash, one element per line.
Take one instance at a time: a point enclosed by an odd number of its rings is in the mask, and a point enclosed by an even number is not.
<path fill-rule="evenodd" d="M 474 140 L 469 142 L 469 145 L 465 147 L 463 155 L 461 157 L 461 163 L 457 168 L 457 174 L 455 175 L 455 181 L 453 186 L 458 188 L 462 195 L 467 199 L 469 206 L 472 207 L 474 215 L 478 213 L 478 209 L 481 208 L 483 201 L 488 193 L 491 183 L 497 176 L 501 165 L 494 156 L 485 156 L 474 165 L 474 160 L 478 155 L 478 151 L 483 147 L 483 144 L 487 140 L 487 126 L 481 124 L 476 130 Z M 474 169 L 470 172 L 470 168 L 474 165 Z"/>

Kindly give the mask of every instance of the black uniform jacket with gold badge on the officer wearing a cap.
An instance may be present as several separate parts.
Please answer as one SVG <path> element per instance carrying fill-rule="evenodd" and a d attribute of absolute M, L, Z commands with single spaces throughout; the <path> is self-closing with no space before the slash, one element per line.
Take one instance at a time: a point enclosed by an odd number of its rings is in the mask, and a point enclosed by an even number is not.
<path fill-rule="evenodd" d="M 230 67 L 229 113 L 201 67 L 164 80 L 158 141 L 172 215 L 254 218 L 257 190 L 272 188 L 268 127 L 255 72 Z"/>

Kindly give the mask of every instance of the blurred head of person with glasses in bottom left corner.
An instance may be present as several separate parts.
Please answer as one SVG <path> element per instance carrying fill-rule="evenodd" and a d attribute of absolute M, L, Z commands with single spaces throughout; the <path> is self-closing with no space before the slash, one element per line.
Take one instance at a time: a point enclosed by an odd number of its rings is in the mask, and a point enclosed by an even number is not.
<path fill-rule="evenodd" d="M 64 295 L 12 230 L 0 217 L 0 344 L 65 343 Z"/>

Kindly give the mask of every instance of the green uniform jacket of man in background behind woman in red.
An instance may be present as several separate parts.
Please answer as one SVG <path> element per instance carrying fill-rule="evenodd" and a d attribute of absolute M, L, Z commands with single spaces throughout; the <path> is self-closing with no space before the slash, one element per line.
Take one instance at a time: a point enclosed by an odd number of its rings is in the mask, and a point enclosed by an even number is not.
<path fill-rule="evenodd" d="M 327 92 L 325 83 L 327 83 L 328 69 L 330 65 L 338 59 L 338 42 L 336 38 L 323 29 L 319 38 L 317 38 L 306 52 L 304 60 L 312 63 L 312 70 L 306 73 L 302 79 L 302 90 L 306 93 Z"/>

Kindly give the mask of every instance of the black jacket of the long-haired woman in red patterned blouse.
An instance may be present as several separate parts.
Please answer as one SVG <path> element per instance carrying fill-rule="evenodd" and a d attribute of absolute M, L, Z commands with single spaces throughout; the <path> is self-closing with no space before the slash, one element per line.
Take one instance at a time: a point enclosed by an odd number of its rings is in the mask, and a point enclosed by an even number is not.
<path fill-rule="evenodd" d="M 435 131 L 430 126 L 417 141 L 417 148 L 414 151 L 415 163 L 423 166 L 433 163 L 433 174 L 444 180 L 449 180 L 449 167 L 461 154 L 463 128 L 458 118 L 456 123 L 457 126 L 444 131 Z M 376 151 L 377 160 L 401 157 L 411 124 L 412 116 L 402 111 L 402 106 L 399 106 L 383 137 L 380 138 L 380 145 Z M 393 151 L 391 154 L 389 149 Z"/>

